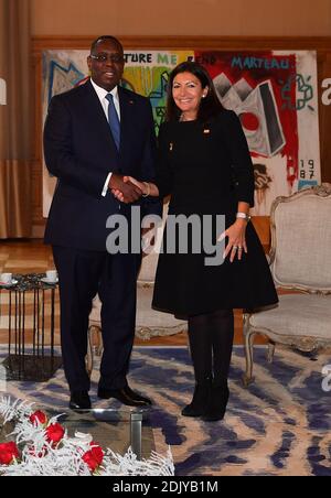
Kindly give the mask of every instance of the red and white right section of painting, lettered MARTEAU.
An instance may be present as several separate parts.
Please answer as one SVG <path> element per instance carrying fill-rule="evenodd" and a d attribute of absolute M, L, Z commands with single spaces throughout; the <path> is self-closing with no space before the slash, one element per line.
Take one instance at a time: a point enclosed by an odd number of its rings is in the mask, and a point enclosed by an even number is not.
<path fill-rule="evenodd" d="M 320 183 L 316 52 L 195 51 L 223 106 L 241 119 L 255 172 L 257 216 L 278 195 Z"/>

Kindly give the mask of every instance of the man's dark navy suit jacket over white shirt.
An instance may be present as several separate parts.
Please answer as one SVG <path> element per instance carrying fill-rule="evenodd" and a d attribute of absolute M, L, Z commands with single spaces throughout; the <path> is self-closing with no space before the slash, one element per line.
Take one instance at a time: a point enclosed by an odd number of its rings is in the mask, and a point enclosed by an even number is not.
<path fill-rule="evenodd" d="M 118 88 L 120 150 L 116 149 L 104 109 L 90 82 L 52 98 L 44 128 L 44 155 L 57 177 L 45 242 L 87 250 L 106 250 L 106 220 L 129 215 L 130 206 L 108 191 L 109 172 L 154 178 L 156 137 L 149 100 Z M 161 215 L 159 201 L 142 199 L 142 215 Z"/>

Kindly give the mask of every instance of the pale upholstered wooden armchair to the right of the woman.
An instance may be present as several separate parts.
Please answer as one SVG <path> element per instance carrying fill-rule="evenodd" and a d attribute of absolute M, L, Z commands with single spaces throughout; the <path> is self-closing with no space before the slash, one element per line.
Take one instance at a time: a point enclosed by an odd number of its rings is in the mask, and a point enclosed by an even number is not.
<path fill-rule="evenodd" d="M 277 288 L 291 293 L 279 305 L 244 314 L 246 374 L 253 379 L 254 337 L 301 351 L 331 346 L 331 184 L 278 197 L 271 207 L 270 269 Z M 258 269 L 256 269 L 258 271 Z"/>

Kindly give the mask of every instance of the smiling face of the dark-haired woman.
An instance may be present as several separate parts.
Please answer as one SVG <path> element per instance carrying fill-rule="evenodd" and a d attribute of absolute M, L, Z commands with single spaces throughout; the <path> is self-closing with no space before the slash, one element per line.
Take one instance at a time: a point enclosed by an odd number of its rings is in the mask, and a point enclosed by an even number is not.
<path fill-rule="evenodd" d="M 200 79 L 192 73 L 178 74 L 172 84 L 172 97 L 175 105 L 188 116 L 196 117 L 201 99 L 209 88 L 202 88 Z"/>

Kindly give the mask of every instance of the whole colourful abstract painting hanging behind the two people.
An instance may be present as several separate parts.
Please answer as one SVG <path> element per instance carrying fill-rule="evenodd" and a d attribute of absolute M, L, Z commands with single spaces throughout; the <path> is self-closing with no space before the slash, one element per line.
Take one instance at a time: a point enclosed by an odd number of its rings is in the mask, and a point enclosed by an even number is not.
<path fill-rule="evenodd" d="M 43 52 L 43 117 L 53 95 L 88 77 L 88 51 Z M 242 121 L 255 171 L 256 216 L 273 201 L 321 181 L 317 54 L 308 51 L 126 52 L 122 85 L 150 98 L 156 130 L 164 118 L 171 69 L 195 59 L 210 72 L 220 100 Z M 44 216 L 55 178 L 44 174 Z"/>

